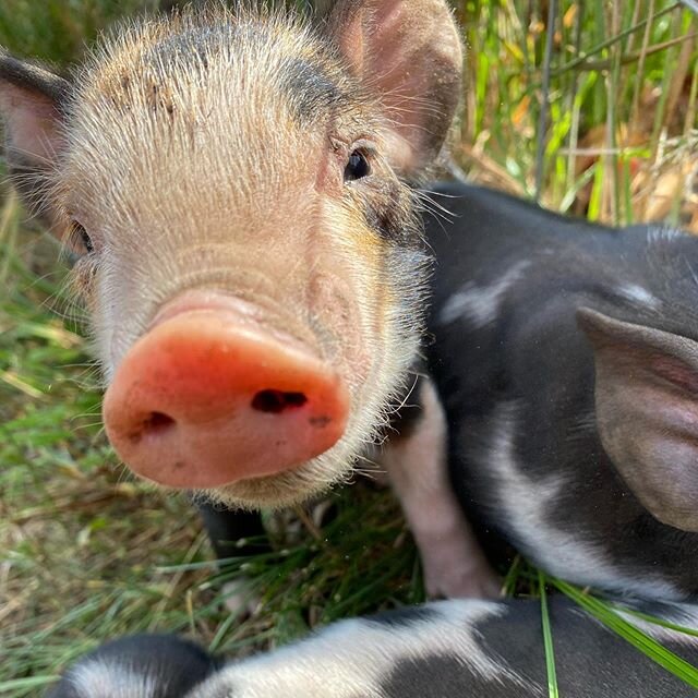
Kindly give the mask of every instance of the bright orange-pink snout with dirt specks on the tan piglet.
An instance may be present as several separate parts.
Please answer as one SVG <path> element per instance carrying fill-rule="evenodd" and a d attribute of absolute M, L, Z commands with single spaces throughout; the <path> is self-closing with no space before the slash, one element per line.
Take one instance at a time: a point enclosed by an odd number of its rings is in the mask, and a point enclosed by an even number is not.
<path fill-rule="evenodd" d="M 166 305 L 116 371 L 104 418 L 124 462 L 163 485 L 209 489 L 330 448 L 349 412 L 334 366 L 244 304 L 204 300 Z"/>

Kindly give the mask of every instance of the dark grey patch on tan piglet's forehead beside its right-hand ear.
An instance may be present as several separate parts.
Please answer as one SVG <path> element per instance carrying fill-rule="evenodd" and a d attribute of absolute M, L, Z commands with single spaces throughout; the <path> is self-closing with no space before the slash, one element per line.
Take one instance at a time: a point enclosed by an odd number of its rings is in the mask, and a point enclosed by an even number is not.
<path fill-rule="evenodd" d="M 330 112 L 341 100 L 339 87 L 322 65 L 293 59 L 284 67 L 280 77 L 281 87 L 301 122 L 315 121 L 318 115 Z"/>

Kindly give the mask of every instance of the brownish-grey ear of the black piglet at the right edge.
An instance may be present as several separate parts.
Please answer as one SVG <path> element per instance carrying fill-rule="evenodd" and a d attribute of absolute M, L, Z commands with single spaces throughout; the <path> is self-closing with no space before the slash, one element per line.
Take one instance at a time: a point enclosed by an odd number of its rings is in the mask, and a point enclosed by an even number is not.
<path fill-rule="evenodd" d="M 581 308 L 597 423 L 617 471 L 657 519 L 698 531 L 698 342 Z"/>

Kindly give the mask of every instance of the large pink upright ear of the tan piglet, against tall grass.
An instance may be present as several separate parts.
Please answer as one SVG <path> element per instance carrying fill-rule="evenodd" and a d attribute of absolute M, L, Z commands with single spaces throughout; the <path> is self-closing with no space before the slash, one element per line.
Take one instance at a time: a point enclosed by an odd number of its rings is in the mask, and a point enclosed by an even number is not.
<path fill-rule="evenodd" d="M 443 0 L 339 0 L 329 27 L 354 74 L 381 97 L 392 166 L 412 177 L 438 155 L 460 97 L 450 10 Z"/>

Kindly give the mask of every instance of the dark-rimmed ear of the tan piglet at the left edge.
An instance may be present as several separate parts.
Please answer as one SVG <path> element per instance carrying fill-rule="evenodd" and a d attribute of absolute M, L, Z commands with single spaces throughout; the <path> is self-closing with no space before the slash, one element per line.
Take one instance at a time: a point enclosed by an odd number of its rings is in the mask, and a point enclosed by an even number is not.
<path fill-rule="evenodd" d="M 62 149 L 62 119 L 70 85 L 0 48 L 0 117 L 13 183 L 29 210 L 50 217 L 41 184 Z"/>

